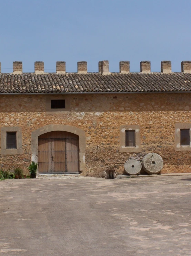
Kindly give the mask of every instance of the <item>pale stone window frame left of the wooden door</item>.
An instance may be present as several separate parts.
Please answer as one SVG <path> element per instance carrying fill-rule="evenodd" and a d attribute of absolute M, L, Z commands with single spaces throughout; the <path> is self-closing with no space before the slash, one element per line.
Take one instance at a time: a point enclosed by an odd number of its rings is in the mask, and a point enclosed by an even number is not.
<path fill-rule="evenodd" d="M 7 148 L 7 132 L 16 132 L 17 148 Z M 6 126 L 1 127 L 1 155 L 21 155 L 22 150 L 22 127 L 20 126 Z"/>

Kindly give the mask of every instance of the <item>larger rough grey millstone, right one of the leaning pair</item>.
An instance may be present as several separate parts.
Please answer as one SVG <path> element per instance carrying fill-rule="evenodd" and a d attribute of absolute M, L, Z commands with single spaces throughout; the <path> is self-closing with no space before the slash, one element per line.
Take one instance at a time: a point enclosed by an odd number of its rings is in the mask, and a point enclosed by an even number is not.
<path fill-rule="evenodd" d="M 143 157 L 142 166 L 148 174 L 158 174 L 163 167 L 162 157 L 156 153 L 149 153 Z"/>

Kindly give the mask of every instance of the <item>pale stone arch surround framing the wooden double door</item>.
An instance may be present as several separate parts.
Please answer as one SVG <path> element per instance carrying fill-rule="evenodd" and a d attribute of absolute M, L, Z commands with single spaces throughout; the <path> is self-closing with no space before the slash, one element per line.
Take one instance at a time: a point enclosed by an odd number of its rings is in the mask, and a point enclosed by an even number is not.
<path fill-rule="evenodd" d="M 86 132 L 72 125 L 48 124 L 33 131 L 31 134 L 31 160 L 38 162 L 38 136 L 53 131 L 71 132 L 79 136 L 79 167 L 80 171 L 84 171 L 86 168 Z"/>

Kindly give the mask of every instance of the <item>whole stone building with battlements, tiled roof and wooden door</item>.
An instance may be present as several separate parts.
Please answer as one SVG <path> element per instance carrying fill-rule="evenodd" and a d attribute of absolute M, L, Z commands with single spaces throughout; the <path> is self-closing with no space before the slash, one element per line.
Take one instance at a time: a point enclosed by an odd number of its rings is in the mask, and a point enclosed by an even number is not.
<path fill-rule="evenodd" d="M 129 158 L 141 160 L 158 153 L 161 173 L 191 172 L 191 62 L 182 72 L 130 73 L 129 62 L 110 73 L 109 62 L 99 62 L 98 73 L 78 62 L 77 73 L 67 73 L 65 62 L 56 72 L 23 73 L 13 62 L 12 73 L 0 74 L 0 166 L 28 172 L 31 160 L 39 173 L 80 173 L 104 177 L 110 168 L 122 174 Z"/>

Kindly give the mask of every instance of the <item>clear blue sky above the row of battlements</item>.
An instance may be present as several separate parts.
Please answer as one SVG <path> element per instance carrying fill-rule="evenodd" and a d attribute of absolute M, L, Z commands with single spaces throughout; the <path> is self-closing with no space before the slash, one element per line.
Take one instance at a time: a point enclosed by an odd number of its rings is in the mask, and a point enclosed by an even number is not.
<path fill-rule="evenodd" d="M 88 61 L 88 72 L 98 72 L 98 61 L 109 60 L 111 72 L 129 60 L 130 71 L 150 60 L 160 71 L 162 60 L 191 60 L 191 0 L 0 0 L 1 72 L 12 72 L 22 61 L 23 72 L 34 72 L 34 61 L 44 61 L 54 72 L 56 61 L 66 61 L 68 72 L 78 61 Z"/>

